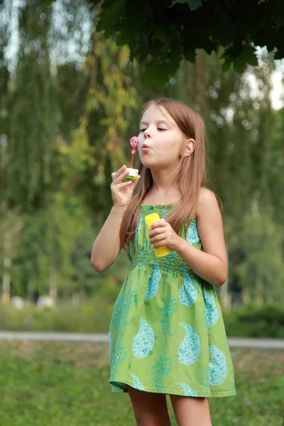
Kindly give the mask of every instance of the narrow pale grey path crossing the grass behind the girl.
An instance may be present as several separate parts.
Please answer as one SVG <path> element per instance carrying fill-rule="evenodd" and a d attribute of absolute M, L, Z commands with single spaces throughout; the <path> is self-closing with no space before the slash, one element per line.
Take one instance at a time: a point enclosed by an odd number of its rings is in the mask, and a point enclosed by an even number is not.
<path fill-rule="evenodd" d="M 107 333 L 60 333 L 60 332 L 0 332 L 0 340 L 43 340 L 55 342 L 109 342 Z M 231 349 L 283 350 L 284 339 L 258 339 L 250 337 L 229 337 Z"/>

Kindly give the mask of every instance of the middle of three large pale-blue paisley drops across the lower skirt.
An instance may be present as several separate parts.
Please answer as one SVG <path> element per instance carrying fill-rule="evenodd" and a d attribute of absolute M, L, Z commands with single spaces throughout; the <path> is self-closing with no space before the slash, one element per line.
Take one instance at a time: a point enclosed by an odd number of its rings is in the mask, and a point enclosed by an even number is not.
<path fill-rule="evenodd" d="M 185 338 L 178 349 L 178 360 L 181 364 L 190 366 L 200 356 L 200 338 L 190 325 L 182 323 L 180 325 L 185 329 Z"/>

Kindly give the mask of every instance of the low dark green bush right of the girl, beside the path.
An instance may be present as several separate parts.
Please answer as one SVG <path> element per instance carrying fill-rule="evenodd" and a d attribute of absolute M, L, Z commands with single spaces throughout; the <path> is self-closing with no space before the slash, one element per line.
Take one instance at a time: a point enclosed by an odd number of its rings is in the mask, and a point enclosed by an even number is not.
<path fill-rule="evenodd" d="M 224 322 L 229 337 L 284 339 L 284 307 L 281 305 L 246 305 L 224 312 Z"/>

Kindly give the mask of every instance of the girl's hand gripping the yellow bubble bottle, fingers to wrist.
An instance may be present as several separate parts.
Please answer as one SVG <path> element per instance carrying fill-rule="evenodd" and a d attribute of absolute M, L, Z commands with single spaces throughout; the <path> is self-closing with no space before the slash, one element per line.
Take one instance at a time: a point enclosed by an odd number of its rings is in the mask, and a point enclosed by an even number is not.
<path fill-rule="evenodd" d="M 153 223 L 149 232 L 149 238 L 151 244 L 154 244 L 154 249 L 167 246 L 171 251 L 178 250 L 181 240 L 180 236 L 175 233 L 172 226 L 165 219 L 160 219 Z"/>

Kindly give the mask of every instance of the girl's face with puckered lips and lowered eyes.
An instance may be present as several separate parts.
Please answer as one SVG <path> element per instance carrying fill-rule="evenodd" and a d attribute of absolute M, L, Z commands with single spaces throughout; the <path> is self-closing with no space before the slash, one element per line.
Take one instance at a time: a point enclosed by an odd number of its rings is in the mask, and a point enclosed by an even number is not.
<path fill-rule="evenodd" d="M 146 168 L 165 170 L 178 165 L 185 135 L 165 108 L 152 104 L 146 109 L 138 139 L 138 152 Z"/>

